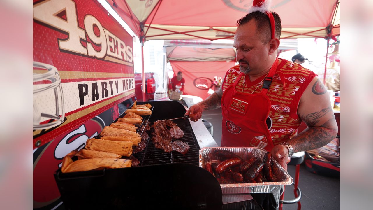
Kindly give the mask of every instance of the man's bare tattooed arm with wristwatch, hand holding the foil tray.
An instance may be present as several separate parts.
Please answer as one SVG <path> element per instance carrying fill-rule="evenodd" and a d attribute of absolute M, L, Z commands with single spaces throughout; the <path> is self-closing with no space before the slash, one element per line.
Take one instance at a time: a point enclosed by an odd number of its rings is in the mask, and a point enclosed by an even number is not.
<path fill-rule="evenodd" d="M 329 95 L 319 78 L 315 77 L 305 89 L 298 105 L 298 115 L 308 127 L 288 141 L 294 152 L 320 148 L 335 138 L 337 123 Z M 286 167 L 288 149 L 284 145 L 276 145 L 272 155 Z"/>

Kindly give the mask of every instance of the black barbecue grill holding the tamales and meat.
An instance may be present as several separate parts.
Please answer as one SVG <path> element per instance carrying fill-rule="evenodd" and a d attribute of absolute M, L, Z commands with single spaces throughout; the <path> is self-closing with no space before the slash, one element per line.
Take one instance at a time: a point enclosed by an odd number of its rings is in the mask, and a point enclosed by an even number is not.
<path fill-rule="evenodd" d="M 185 114 L 184 106 L 176 101 L 148 103 L 154 109 L 144 122 Z M 190 146 L 185 155 L 164 152 L 149 140 L 144 151 L 134 154 L 140 161 L 137 167 L 74 173 L 57 170 L 54 177 L 66 209 L 221 209 L 219 183 L 213 175 L 198 167 L 200 145 L 190 121 L 173 122 L 184 132 L 178 140 L 188 142 Z M 240 205 L 250 206 L 252 202 Z"/>

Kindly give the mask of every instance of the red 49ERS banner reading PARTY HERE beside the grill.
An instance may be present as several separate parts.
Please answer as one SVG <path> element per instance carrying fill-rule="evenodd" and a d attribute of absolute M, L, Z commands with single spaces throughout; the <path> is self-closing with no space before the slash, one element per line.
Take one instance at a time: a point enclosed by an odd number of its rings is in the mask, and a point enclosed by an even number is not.
<path fill-rule="evenodd" d="M 33 148 L 135 94 L 133 42 L 97 1 L 33 6 Z"/>

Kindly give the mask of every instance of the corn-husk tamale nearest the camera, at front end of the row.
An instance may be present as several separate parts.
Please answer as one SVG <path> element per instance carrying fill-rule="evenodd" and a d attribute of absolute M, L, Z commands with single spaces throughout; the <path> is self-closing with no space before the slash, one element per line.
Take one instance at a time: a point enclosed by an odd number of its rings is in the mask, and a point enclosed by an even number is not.
<path fill-rule="evenodd" d="M 68 156 L 66 156 L 68 157 Z M 70 158 L 71 159 L 71 158 Z M 68 172 L 83 172 L 99 168 L 119 169 L 131 167 L 131 160 L 117 158 L 91 158 L 82 159 L 70 163 L 65 169 L 61 169 L 62 173 Z"/>

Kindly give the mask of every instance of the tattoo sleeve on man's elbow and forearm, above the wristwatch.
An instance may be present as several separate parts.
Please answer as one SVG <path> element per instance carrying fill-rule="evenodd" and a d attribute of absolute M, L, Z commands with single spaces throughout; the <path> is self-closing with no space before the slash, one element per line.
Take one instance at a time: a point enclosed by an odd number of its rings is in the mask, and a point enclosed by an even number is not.
<path fill-rule="evenodd" d="M 293 146 L 294 152 L 320 148 L 335 138 L 338 132 L 338 127 L 334 115 L 331 115 L 326 123 L 318 125 L 320 123 L 320 118 L 326 114 L 330 114 L 330 111 L 333 111 L 333 109 L 328 107 L 319 112 L 301 116 L 301 119 L 303 119 L 308 127 L 303 132 L 289 140 L 288 143 Z"/>

